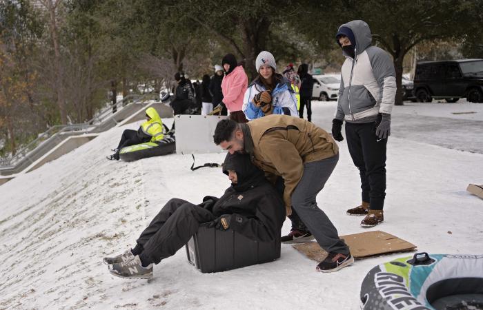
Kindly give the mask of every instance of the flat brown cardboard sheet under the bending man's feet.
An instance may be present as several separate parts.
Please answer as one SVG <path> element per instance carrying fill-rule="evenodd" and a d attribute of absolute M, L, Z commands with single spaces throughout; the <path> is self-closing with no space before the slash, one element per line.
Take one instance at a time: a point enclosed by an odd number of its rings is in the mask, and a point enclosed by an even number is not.
<path fill-rule="evenodd" d="M 394 252 L 414 251 L 416 246 L 406 240 L 397 238 L 384 231 L 367 231 L 360 234 L 340 236 L 346 245 L 351 249 L 354 258 L 364 258 L 379 254 L 389 254 Z M 317 242 L 306 242 L 293 245 L 297 251 L 308 258 L 322 261 L 327 256 Z"/>

